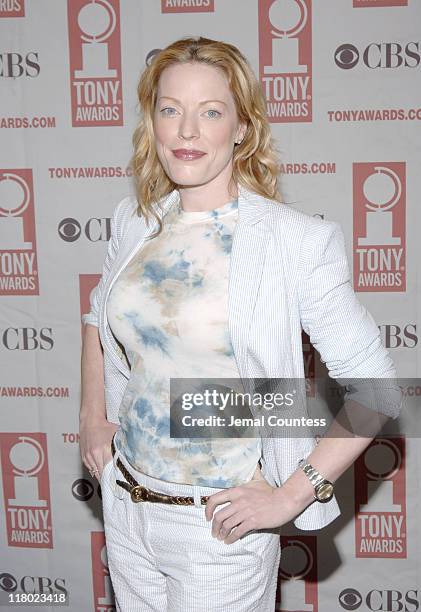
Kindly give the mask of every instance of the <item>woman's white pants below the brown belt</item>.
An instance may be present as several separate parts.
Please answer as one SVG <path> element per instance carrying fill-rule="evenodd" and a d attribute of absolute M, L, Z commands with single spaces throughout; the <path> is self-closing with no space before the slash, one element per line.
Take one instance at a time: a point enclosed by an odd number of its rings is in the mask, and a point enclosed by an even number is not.
<path fill-rule="evenodd" d="M 139 484 L 189 495 L 195 505 L 133 503 L 115 483 L 125 480 L 118 457 Z M 117 449 L 104 467 L 101 490 L 117 612 L 274 612 L 279 534 L 256 530 L 233 544 L 212 537 L 200 495 L 222 489 L 151 478 L 134 470 Z"/>

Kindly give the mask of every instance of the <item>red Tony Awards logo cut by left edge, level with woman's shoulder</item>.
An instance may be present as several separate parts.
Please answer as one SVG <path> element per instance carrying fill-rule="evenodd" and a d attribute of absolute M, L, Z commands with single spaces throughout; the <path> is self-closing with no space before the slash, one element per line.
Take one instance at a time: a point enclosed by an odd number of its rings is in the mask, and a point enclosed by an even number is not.
<path fill-rule="evenodd" d="M 0 295 L 38 295 L 31 170 L 0 170 Z"/>

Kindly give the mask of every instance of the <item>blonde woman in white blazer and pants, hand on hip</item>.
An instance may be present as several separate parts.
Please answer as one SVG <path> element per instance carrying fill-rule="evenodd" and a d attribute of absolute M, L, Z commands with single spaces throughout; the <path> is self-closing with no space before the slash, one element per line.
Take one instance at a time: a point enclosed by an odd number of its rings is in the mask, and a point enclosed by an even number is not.
<path fill-rule="evenodd" d="M 370 438 L 339 425 L 317 446 L 171 438 L 170 378 L 302 379 L 301 328 L 332 377 L 394 367 L 352 291 L 338 224 L 279 202 L 265 102 L 239 50 L 181 39 L 138 95 L 137 198 L 115 210 L 83 317 L 81 455 L 101 482 L 117 609 L 269 612 L 276 528 L 334 520 L 332 483 Z"/>

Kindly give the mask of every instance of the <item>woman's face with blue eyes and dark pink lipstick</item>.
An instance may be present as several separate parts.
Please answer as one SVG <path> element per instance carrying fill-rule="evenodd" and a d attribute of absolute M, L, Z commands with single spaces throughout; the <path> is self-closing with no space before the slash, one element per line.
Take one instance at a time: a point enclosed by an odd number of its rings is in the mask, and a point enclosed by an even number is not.
<path fill-rule="evenodd" d="M 232 175 L 234 143 L 244 136 L 225 75 L 198 62 L 174 64 L 159 79 L 155 146 L 168 177 L 180 187 L 220 183 Z"/>

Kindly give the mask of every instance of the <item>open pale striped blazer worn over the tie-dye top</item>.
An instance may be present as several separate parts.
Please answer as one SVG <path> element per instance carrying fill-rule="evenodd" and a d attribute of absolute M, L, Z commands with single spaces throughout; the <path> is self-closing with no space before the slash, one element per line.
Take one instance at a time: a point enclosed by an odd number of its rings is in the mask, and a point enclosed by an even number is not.
<path fill-rule="evenodd" d="M 164 215 L 179 199 L 174 190 L 155 210 Z M 134 197 L 122 200 L 111 221 L 102 277 L 83 323 L 99 327 L 104 349 L 107 419 L 118 412 L 130 376 L 107 321 L 106 304 L 119 273 L 156 229 L 136 214 Z M 299 212 L 238 185 L 228 289 L 228 327 L 240 377 L 304 379 L 304 329 L 333 378 L 394 378 L 379 330 L 350 282 L 338 223 Z M 340 381 L 338 381 L 340 382 Z M 391 410 L 396 406 L 391 406 Z M 396 414 L 396 413 L 395 413 Z M 262 438 L 262 475 L 281 486 L 316 445 L 306 438 Z M 320 529 L 341 514 L 337 500 L 314 501 L 295 518 L 299 529 Z"/>

